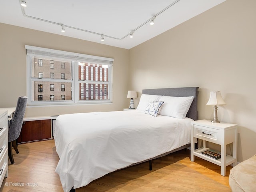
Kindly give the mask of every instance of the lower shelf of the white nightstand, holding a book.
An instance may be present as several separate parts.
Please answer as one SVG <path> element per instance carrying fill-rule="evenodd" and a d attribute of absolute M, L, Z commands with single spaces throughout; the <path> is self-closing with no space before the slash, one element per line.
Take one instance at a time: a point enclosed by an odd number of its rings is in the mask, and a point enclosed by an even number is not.
<path fill-rule="evenodd" d="M 194 156 L 200 157 L 200 158 L 202 158 L 202 159 L 204 159 L 204 160 L 207 160 L 207 161 L 212 162 L 212 163 L 214 163 L 214 164 L 216 164 L 216 165 L 218 165 L 218 166 L 221 166 L 221 158 L 216 160 L 216 159 L 214 159 L 214 158 L 211 158 L 211 157 L 206 156 L 206 155 L 204 155 L 204 154 L 201 153 L 201 152 L 204 152 L 204 151 L 209 150 L 209 149 L 210 149 L 210 148 L 199 148 L 199 149 L 196 149 L 196 150 L 193 152 L 193 154 L 194 154 Z M 225 166 L 228 166 L 228 165 L 234 163 L 235 161 L 236 161 L 236 158 L 233 158 L 233 157 L 230 156 L 230 155 L 226 155 Z"/>

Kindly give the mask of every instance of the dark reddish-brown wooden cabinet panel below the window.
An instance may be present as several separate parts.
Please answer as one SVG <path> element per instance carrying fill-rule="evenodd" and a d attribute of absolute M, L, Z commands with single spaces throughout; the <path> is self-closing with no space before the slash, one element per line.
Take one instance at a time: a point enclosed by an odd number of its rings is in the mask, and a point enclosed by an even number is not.
<path fill-rule="evenodd" d="M 51 125 L 50 119 L 23 122 L 18 143 L 50 139 Z"/>

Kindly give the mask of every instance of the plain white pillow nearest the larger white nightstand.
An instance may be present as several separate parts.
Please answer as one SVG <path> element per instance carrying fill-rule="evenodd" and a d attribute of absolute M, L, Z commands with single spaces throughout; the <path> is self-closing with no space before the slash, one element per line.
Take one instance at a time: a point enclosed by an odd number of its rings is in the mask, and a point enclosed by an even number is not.
<path fill-rule="evenodd" d="M 194 96 L 190 97 L 172 97 L 162 96 L 161 101 L 164 101 L 159 115 L 165 115 L 184 119 L 188 113 L 190 105 L 194 100 Z"/>

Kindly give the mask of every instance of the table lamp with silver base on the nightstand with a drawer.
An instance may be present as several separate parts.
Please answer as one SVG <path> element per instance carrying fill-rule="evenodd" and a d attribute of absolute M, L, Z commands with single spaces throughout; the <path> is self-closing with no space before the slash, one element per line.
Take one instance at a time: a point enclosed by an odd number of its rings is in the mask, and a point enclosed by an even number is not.
<path fill-rule="evenodd" d="M 224 105 L 226 104 L 220 94 L 220 91 L 211 91 L 210 92 L 210 98 L 206 105 L 214 105 L 214 114 L 213 114 L 213 120 L 212 123 L 220 123 L 218 120 L 218 114 L 217 114 L 217 105 Z"/>

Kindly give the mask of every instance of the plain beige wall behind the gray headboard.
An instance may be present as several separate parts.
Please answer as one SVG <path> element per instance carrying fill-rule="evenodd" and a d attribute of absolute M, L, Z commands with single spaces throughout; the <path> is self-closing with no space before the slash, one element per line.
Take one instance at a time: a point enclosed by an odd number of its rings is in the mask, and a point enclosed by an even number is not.
<path fill-rule="evenodd" d="M 210 120 L 210 91 L 221 91 L 218 119 L 238 124 L 239 162 L 256 154 L 255 8 L 255 0 L 227 0 L 130 50 L 129 86 L 140 94 L 198 86 L 199 118 Z"/>

